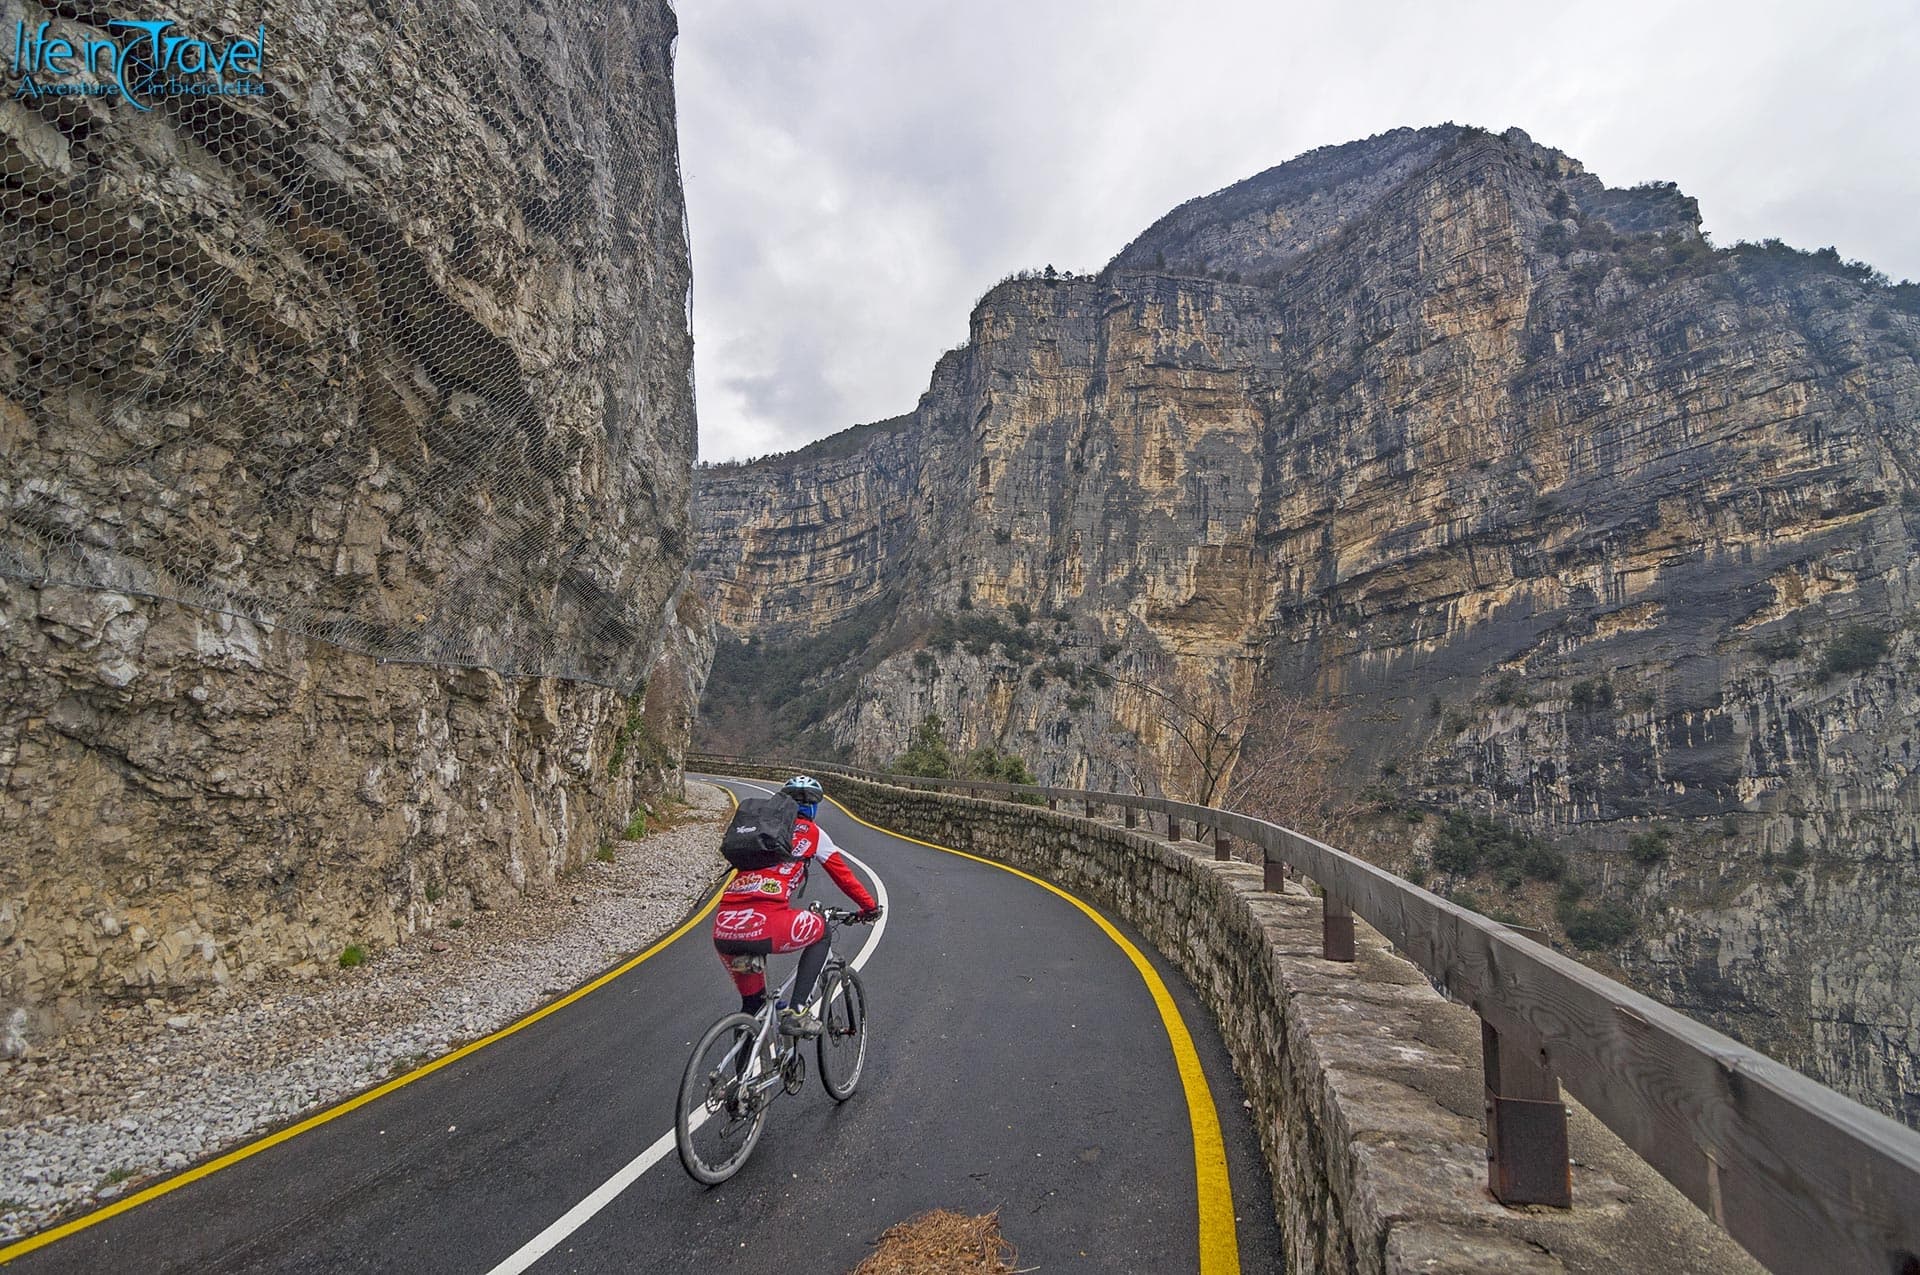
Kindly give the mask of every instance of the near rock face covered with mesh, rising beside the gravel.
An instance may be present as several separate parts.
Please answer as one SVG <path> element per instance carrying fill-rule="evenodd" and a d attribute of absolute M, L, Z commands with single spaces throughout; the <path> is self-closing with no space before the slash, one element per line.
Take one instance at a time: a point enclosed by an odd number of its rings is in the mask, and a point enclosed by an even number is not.
<path fill-rule="evenodd" d="M 678 768 L 710 636 L 674 31 L 321 0 L 269 19 L 263 96 L 0 104 L 0 1006 L 35 1031 L 501 904 Z"/>

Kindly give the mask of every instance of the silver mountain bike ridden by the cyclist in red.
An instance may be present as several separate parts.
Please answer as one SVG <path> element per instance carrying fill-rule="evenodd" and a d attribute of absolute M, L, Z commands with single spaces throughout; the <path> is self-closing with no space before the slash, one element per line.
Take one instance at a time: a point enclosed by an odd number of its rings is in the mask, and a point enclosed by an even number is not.
<path fill-rule="evenodd" d="M 845 1102 L 866 1066 L 866 989 L 860 975 L 833 952 L 833 935 L 854 924 L 854 912 L 812 904 L 828 924 L 828 964 L 820 972 L 820 1035 L 814 1056 L 828 1096 Z M 766 956 L 756 956 L 766 968 Z M 674 1144 L 680 1164 L 697 1183 L 714 1187 L 747 1164 L 766 1108 L 781 1093 L 797 1095 L 806 1083 L 801 1039 L 780 1033 L 780 1004 L 793 995 L 799 970 L 766 998 L 758 1014 L 728 1014 L 699 1039 L 680 1077 L 674 1108 Z"/>

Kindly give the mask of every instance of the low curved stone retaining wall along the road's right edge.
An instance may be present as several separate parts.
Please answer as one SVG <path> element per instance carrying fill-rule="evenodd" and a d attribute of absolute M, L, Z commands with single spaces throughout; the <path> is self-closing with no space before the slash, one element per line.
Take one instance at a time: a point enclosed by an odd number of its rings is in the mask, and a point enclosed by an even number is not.
<path fill-rule="evenodd" d="M 1478 1018 L 1363 924 L 1356 962 L 1323 960 L 1321 906 L 1298 885 L 1265 893 L 1260 868 L 1212 847 L 1066 812 L 828 783 L 864 820 L 1056 881 L 1179 966 L 1254 1108 L 1290 1271 L 1759 1269 L 1578 1106 L 1574 1208 L 1494 1202 Z"/>

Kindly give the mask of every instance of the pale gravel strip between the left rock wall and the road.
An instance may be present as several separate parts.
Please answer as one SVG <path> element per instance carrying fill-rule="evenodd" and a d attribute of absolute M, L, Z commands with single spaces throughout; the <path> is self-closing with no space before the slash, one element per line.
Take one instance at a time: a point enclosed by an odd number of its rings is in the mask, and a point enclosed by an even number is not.
<path fill-rule="evenodd" d="M 104 1014 L 0 1062 L 0 1242 L 401 1075 L 647 947 L 718 883 L 724 791 L 509 912 L 355 970 Z"/>

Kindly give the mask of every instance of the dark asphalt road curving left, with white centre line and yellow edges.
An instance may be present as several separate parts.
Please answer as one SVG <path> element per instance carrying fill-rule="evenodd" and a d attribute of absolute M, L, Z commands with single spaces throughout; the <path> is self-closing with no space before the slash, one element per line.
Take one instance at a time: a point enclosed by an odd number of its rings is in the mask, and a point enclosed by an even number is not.
<path fill-rule="evenodd" d="M 1010 872 L 837 808 L 822 822 L 889 899 L 862 968 L 866 1071 L 845 1106 L 812 1075 L 780 1098 L 732 1181 L 703 1189 L 670 1148 L 659 1154 L 693 1041 L 737 1004 L 701 924 L 451 1066 L 6 1269 L 808 1275 L 849 1271 L 881 1231 L 929 1208 L 998 1210 L 1021 1269 L 1198 1269 L 1187 1091 L 1121 947 Z M 824 872 L 808 895 L 841 901 Z M 1240 1269 L 1277 1271 L 1267 1175 L 1217 1029 L 1114 924 L 1192 1033 Z M 868 941 L 852 927 L 839 947 L 851 956 Z"/>

